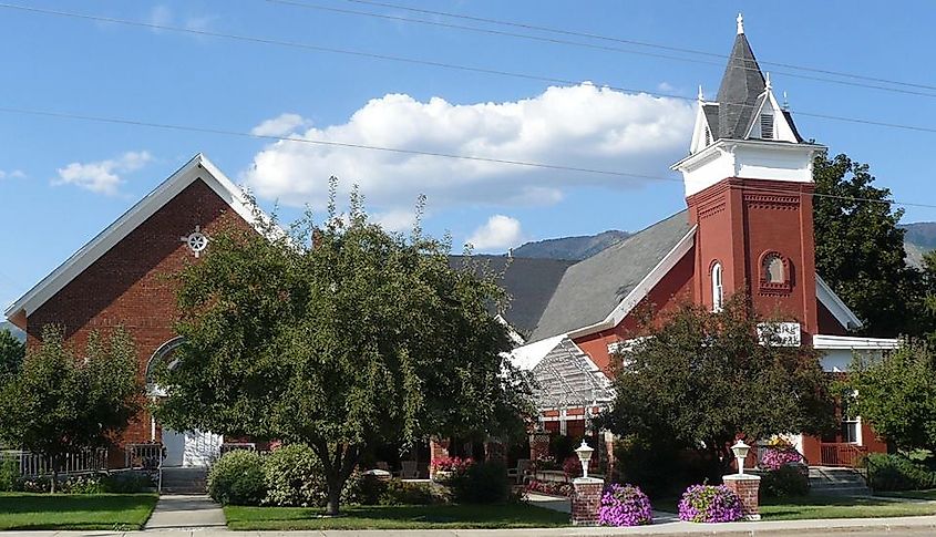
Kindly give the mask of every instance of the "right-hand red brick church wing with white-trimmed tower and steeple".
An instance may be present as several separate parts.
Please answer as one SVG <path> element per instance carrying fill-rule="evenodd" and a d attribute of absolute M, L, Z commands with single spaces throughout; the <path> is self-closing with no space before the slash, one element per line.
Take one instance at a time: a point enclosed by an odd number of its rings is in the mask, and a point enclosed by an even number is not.
<path fill-rule="evenodd" d="M 666 312 L 691 300 L 718 311 L 748 293 L 761 316 L 789 321 L 778 327 L 784 344 L 821 350 L 829 372 L 845 371 L 855 352 L 897 347 L 848 335 L 861 321 L 815 272 L 813 158 L 824 149 L 778 103 L 739 16 L 718 95 L 707 101 L 700 87 L 689 154 L 671 167 L 682 174 L 686 210 L 569 266 L 513 352 L 539 381 L 547 430 L 580 435 L 611 401 L 610 355 L 634 337 L 638 304 Z M 835 438 L 793 441 L 816 465 L 886 451 L 858 416 L 843 416 Z"/>

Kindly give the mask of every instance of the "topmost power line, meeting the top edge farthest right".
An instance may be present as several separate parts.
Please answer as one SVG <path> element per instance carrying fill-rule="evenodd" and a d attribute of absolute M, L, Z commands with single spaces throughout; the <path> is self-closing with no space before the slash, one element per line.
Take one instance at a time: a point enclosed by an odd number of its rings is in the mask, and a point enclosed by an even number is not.
<path fill-rule="evenodd" d="M 531 23 L 525 23 L 525 22 L 506 21 L 506 20 L 503 20 L 503 19 L 473 17 L 473 16 L 466 16 L 466 14 L 462 14 L 462 13 L 452 13 L 452 12 L 446 12 L 446 11 L 435 11 L 435 10 L 429 10 L 429 9 L 420 9 L 420 8 L 413 8 L 413 7 L 410 7 L 410 6 L 402 6 L 402 4 L 389 3 L 389 2 L 379 2 L 379 1 L 373 1 L 373 0 L 344 0 L 344 1 L 350 2 L 350 3 L 357 3 L 357 4 L 399 9 L 399 10 L 410 11 L 410 12 L 414 12 L 414 13 L 434 14 L 434 16 L 441 16 L 441 17 L 450 17 L 450 18 L 454 18 L 454 19 L 471 20 L 471 21 L 475 21 L 475 22 L 485 22 L 485 23 L 500 24 L 500 25 L 505 25 L 505 27 L 523 28 L 523 29 L 526 29 L 526 30 L 536 30 L 536 31 L 542 31 L 542 32 L 556 33 L 556 34 L 560 34 L 560 35 L 575 35 L 575 37 L 579 37 L 579 38 L 588 38 L 588 39 L 595 39 L 595 40 L 600 40 L 600 41 L 625 43 L 625 44 L 637 45 L 637 47 L 647 47 L 647 48 L 651 48 L 651 49 L 667 50 L 667 51 L 671 51 L 671 52 L 683 52 L 683 53 L 689 53 L 689 54 L 699 54 L 699 55 L 703 55 L 703 56 L 719 58 L 719 59 L 729 58 L 726 54 L 719 54 L 719 53 L 716 53 L 716 52 L 700 51 L 700 50 L 687 49 L 687 48 L 680 48 L 680 47 L 671 47 L 671 45 L 665 45 L 665 44 L 659 44 L 659 43 L 649 43 L 649 42 L 646 42 L 646 41 L 636 41 L 636 40 L 629 40 L 629 39 L 623 39 L 623 38 L 615 38 L 615 37 L 593 33 L 593 32 L 578 32 L 578 31 L 572 31 L 572 30 L 564 30 L 564 29 L 559 29 L 559 28 L 536 25 L 536 24 L 531 24 Z M 779 68 L 795 69 L 795 70 L 799 70 L 799 71 L 808 71 L 808 72 L 813 72 L 813 73 L 830 74 L 830 75 L 834 75 L 834 76 L 843 76 L 843 78 L 855 79 L 855 80 L 866 80 L 866 81 L 870 81 L 870 82 L 883 82 L 883 83 L 886 83 L 886 84 L 903 85 L 903 86 L 908 86 L 908 87 L 936 90 L 935 85 L 919 84 L 919 83 L 914 83 L 914 82 L 902 82 L 902 81 L 883 79 L 883 78 L 877 78 L 877 76 L 867 76 L 867 75 L 855 74 L 855 73 L 846 73 L 846 72 L 843 72 L 843 71 L 833 71 L 833 70 L 829 70 L 829 69 L 796 65 L 796 64 L 792 64 L 792 63 L 781 63 L 781 62 L 770 62 L 770 61 L 761 61 L 760 63 L 762 63 L 764 65 L 775 65 L 775 66 L 779 66 Z"/>

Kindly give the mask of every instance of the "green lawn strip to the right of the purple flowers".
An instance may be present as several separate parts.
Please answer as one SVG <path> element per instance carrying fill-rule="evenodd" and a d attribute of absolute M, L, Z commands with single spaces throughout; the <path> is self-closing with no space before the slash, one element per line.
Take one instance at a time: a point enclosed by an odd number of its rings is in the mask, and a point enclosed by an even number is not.
<path fill-rule="evenodd" d="M 654 502 L 654 508 L 677 512 L 676 499 Z M 800 498 L 762 499 L 764 520 L 803 520 L 810 518 L 881 518 L 893 516 L 936 515 L 936 504 L 893 502 L 881 498 L 803 496 Z"/>

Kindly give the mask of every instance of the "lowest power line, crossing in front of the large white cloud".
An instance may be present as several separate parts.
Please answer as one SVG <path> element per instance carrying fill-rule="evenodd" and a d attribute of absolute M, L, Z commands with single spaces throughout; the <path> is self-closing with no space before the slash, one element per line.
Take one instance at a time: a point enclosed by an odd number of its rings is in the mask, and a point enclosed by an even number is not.
<path fill-rule="evenodd" d="M 354 143 L 347 143 L 347 142 L 333 142 L 333 141 L 315 140 L 315 138 L 308 138 L 308 137 L 274 136 L 274 135 L 267 135 L 267 134 L 255 134 L 255 133 L 243 132 L 243 131 L 232 131 L 232 130 L 226 130 L 226 128 L 213 128 L 213 127 L 202 127 L 202 126 L 193 126 L 193 125 L 179 125 L 179 124 L 173 124 L 173 123 L 146 122 L 146 121 L 142 121 L 142 120 L 131 120 L 131 118 L 125 118 L 125 117 L 106 117 L 106 116 L 95 116 L 95 115 L 88 115 L 88 114 L 74 114 L 74 113 L 69 113 L 69 112 L 58 112 L 58 111 L 49 111 L 49 110 L 19 109 L 19 107 L 12 107 L 12 106 L 0 106 L 0 113 L 24 114 L 24 115 L 34 115 L 34 116 L 44 116 L 44 117 L 55 117 L 55 118 L 62 118 L 62 120 L 76 120 L 76 121 L 86 121 L 86 122 L 95 122 L 95 123 L 109 123 L 109 124 L 117 124 L 117 125 L 143 126 L 143 127 L 152 127 L 152 128 L 160 128 L 160 130 L 167 130 L 167 131 L 194 132 L 194 133 L 202 133 L 202 134 L 226 135 L 226 136 L 236 136 L 236 137 L 255 138 L 255 140 L 269 140 L 269 141 L 277 141 L 277 142 L 321 145 L 321 146 L 330 146 L 330 147 L 339 147 L 339 148 L 379 151 L 379 152 L 385 152 L 385 153 L 430 156 L 430 157 L 438 157 L 438 158 L 454 158 L 454 159 L 461 159 L 461 161 L 484 162 L 484 163 L 492 163 L 492 164 L 503 164 L 503 165 L 510 165 L 510 166 L 520 166 L 520 167 L 538 168 L 538 169 L 551 169 L 551 171 L 558 171 L 558 172 L 575 172 L 575 173 L 585 173 L 585 174 L 594 174 L 594 175 L 603 175 L 603 176 L 638 178 L 638 179 L 648 179 L 648 180 L 661 180 L 661 182 L 680 183 L 680 184 L 682 183 L 682 179 L 680 179 L 680 178 L 666 177 L 666 176 L 661 176 L 661 175 L 636 174 L 636 173 L 629 173 L 629 172 L 615 172 L 615 171 L 610 171 L 610 169 L 587 168 L 587 167 L 578 167 L 578 166 L 564 166 L 564 165 L 559 165 L 559 164 L 537 163 L 537 162 L 531 162 L 531 161 L 520 161 L 520 159 L 510 159 L 510 158 L 493 158 L 493 157 L 484 157 L 484 156 L 477 156 L 477 155 L 460 155 L 460 154 L 454 154 L 454 153 L 442 153 L 442 152 L 421 151 L 421 149 L 407 149 L 407 148 L 401 148 L 401 147 L 385 147 L 385 146 L 379 146 L 379 145 L 354 144 Z M 745 186 L 742 186 L 741 188 L 752 190 L 752 192 L 761 192 L 761 193 L 770 193 L 770 194 L 791 194 L 786 190 L 771 189 L 771 188 L 758 187 L 758 186 L 751 186 L 751 185 L 745 185 Z M 906 206 L 906 207 L 923 207 L 923 208 L 936 209 L 936 205 L 920 204 L 920 203 L 914 203 L 914 202 L 901 202 L 901 200 L 896 200 L 896 199 L 874 199 L 874 198 L 862 198 L 862 197 L 853 197 L 853 196 L 836 196 L 836 195 L 832 195 L 832 194 L 817 194 L 817 193 L 809 193 L 809 194 L 802 193 L 801 195 L 808 195 L 808 196 L 813 196 L 813 197 L 834 198 L 834 199 L 845 199 L 845 200 L 852 200 L 852 202 L 867 202 L 867 203 L 876 203 L 876 204 L 902 205 L 902 206 Z"/>

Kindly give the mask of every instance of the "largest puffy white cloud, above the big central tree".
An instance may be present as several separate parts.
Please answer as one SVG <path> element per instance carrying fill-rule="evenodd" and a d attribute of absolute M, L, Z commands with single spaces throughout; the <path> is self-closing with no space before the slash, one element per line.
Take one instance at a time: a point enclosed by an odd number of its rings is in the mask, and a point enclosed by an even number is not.
<path fill-rule="evenodd" d="M 257 130 L 296 124 L 286 115 Z M 358 144 L 526 161 L 572 167 L 665 175 L 686 152 L 691 103 L 627 94 L 589 83 L 549 87 L 505 103 L 420 102 L 404 94 L 373 99 L 346 123 L 308 127 L 297 136 Z M 289 131 L 286 128 L 286 131 Z M 281 132 L 281 131 L 280 131 Z M 564 189 L 632 187 L 641 179 L 280 141 L 254 156 L 243 179 L 263 198 L 323 207 L 327 178 L 358 184 L 371 207 L 412 207 L 425 194 L 430 207 L 554 204 Z"/>

